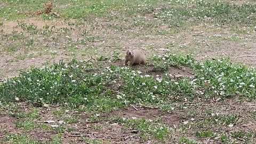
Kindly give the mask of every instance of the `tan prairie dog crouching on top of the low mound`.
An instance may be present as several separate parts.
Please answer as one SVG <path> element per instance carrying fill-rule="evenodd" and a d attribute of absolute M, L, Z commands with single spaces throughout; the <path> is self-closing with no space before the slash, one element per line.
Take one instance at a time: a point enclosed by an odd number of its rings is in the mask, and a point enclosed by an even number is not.
<path fill-rule="evenodd" d="M 124 65 L 127 65 L 128 61 L 130 61 L 130 66 L 132 66 L 133 64 L 146 65 L 146 55 L 141 50 L 128 49 L 126 51 Z"/>

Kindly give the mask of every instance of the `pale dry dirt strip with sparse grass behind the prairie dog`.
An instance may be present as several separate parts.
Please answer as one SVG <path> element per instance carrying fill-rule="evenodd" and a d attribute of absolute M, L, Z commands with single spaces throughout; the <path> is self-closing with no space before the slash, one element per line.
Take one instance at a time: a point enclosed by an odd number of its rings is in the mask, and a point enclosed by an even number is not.
<path fill-rule="evenodd" d="M 173 53 L 194 53 L 198 60 L 228 56 L 236 62 L 243 62 L 251 66 L 255 66 L 256 61 L 254 56 L 256 55 L 255 33 L 237 35 L 229 28 L 195 26 L 188 28 L 186 31 L 181 30 L 178 34 L 163 36 L 154 33 L 145 34 L 140 28 L 119 32 L 111 27 L 117 25 L 128 27 L 130 25 L 100 19 L 95 19 L 94 22 L 90 23 L 82 21 L 83 25 L 79 26 L 68 26 L 70 21 L 42 21 L 38 18 L 28 18 L 24 22 L 27 25 L 36 26 L 38 31 L 44 31 L 44 26 L 54 27 L 52 28 L 53 35 L 33 35 L 31 31 L 19 27 L 18 22 L 4 21 L 1 27 L 3 37 L 0 40 L 1 79 L 18 76 L 19 69 L 30 66 L 40 67 L 45 62 L 68 61 L 72 58 L 89 59 L 101 54 L 113 54 L 113 50 L 124 55 L 124 50 L 128 47 L 142 49 L 148 57 L 161 54 L 164 51 L 171 51 Z M 62 29 L 68 29 L 66 35 L 65 33 L 62 34 Z M 161 26 L 159 26 L 159 29 L 171 30 Z M 88 33 L 92 35 L 90 37 L 93 37 L 94 40 L 82 45 L 81 41 L 84 37 L 81 36 L 81 31 L 86 30 L 89 31 Z M 13 31 L 15 31 L 15 34 Z M 22 45 L 25 40 L 17 42 L 15 38 L 12 38 L 19 33 L 22 33 L 26 38 L 33 36 L 31 37 L 34 39 L 33 47 Z M 138 33 L 143 36 L 134 36 Z M 239 40 L 228 40 L 233 36 Z M 10 43 L 15 46 L 16 50 L 14 52 L 5 50 Z M 25 41 L 25 43 L 27 42 Z M 166 47 L 170 43 L 174 46 Z"/>

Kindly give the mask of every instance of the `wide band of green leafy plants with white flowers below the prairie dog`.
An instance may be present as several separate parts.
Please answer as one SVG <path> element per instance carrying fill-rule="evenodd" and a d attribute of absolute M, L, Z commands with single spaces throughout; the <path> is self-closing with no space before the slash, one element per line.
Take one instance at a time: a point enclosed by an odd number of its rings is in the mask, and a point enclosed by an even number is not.
<path fill-rule="evenodd" d="M 98 62 L 104 65 L 108 59 L 98 60 L 103 60 Z M 162 71 L 163 75 L 157 79 L 149 73 L 142 74 L 140 70 L 129 67 L 117 67 L 113 64 L 110 67 L 94 67 L 97 61 L 73 60 L 44 68 L 31 68 L 22 72 L 19 77 L 1 84 L 1 101 L 13 102 L 18 97 L 20 101 L 29 101 L 35 105 L 67 102 L 74 107 L 86 105 L 91 110 L 109 111 L 129 103 L 161 104 L 162 100 L 170 99 L 171 95 L 177 98 L 171 98 L 170 101 L 180 101 L 185 96 L 187 99 L 194 99 L 198 89 L 202 91 L 201 97 L 206 99 L 215 95 L 254 98 L 254 69 L 234 65 L 225 59 L 199 63 L 189 56 L 172 54 L 154 57 L 153 60 L 153 69 Z M 196 78 L 174 80 L 165 73 L 171 66 L 191 67 Z M 117 83 L 124 85 L 116 91 L 114 87 Z M 106 105 L 102 106 L 102 101 Z"/>

